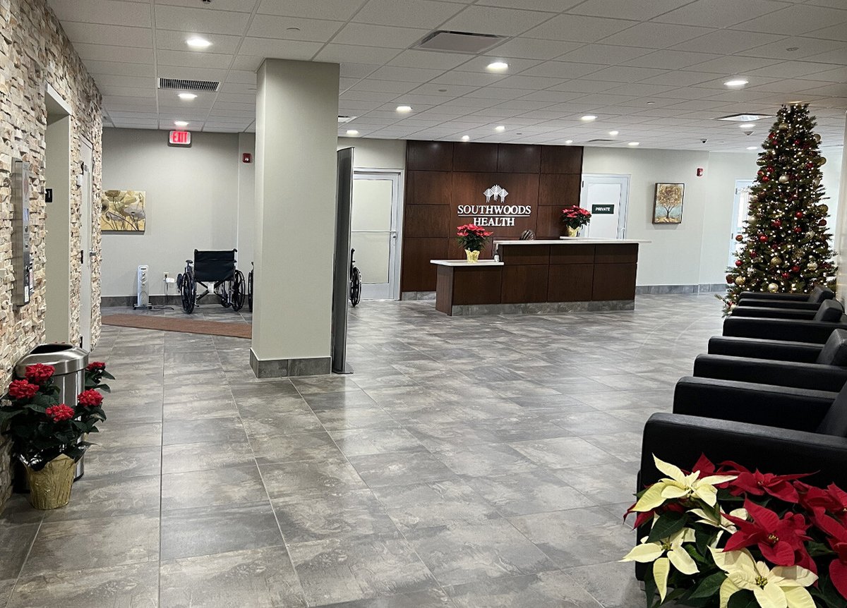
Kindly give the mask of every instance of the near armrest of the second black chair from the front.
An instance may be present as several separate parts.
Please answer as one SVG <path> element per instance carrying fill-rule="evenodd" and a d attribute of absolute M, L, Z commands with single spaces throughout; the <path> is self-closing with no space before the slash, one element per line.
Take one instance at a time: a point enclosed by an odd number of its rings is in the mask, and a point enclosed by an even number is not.
<path fill-rule="evenodd" d="M 847 368 L 834 365 L 726 355 L 698 356 L 694 362 L 694 375 L 698 378 L 793 386 L 798 389 L 831 390 L 836 393 L 847 382 Z"/>

